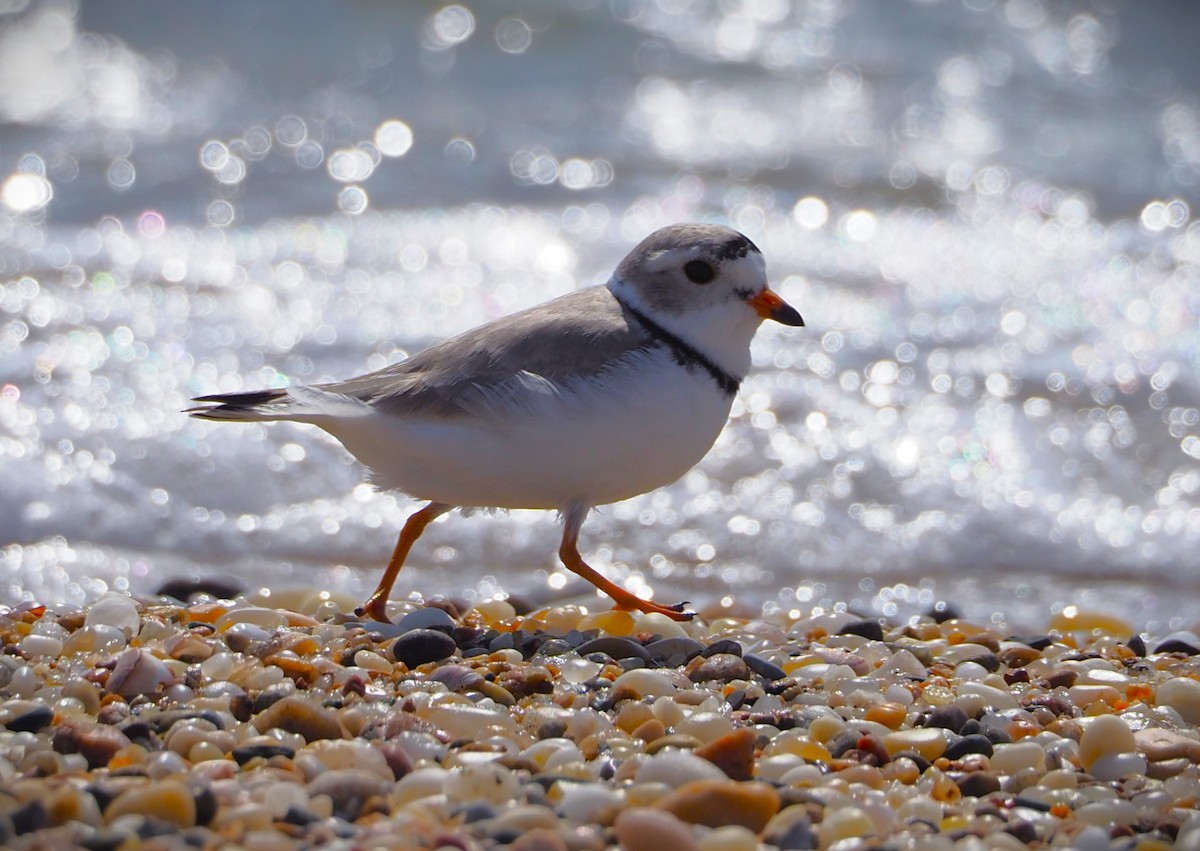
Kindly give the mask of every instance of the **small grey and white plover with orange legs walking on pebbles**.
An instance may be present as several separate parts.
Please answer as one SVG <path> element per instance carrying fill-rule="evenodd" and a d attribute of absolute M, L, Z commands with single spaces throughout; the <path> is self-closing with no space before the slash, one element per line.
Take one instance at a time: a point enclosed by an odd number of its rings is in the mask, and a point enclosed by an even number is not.
<path fill-rule="evenodd" d="M 638 242 L 604 284 L 364 376 L 198 396 L 186 413 L 314 425 L 377 487 L 425 502 L 360 617 L 388 622 L 388 595 L 433 520 L 486 508 L 558 511 L 569 570 L 618 609 L 686 621 L 686 603 L 643 599 L 592 568 L 580 532 L 594 508 L 668 485 L 708 453 L 764 319 L 804 325 L 769 288 L 758 247 L 721 224 L 672 224 Z"/>

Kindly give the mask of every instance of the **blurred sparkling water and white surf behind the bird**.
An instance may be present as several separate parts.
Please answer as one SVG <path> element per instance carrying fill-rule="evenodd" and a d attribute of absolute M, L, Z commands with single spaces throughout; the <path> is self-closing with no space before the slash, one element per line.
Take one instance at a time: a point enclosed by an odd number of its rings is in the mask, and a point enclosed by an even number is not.
<path fill-rule="evenodd" d="M 184 573 L 362 594 L 406 499 L 198 394 L 343 378 L 725 221 L 764 328 L 677 485 L 602 509 L 659 599 L 1200 621 L 1200 7 L 0 2 L 0 600 Z M 451 515 L 397 593 L 552 591 Z M 464 591 L 466 589 L 466 591 Z"/>

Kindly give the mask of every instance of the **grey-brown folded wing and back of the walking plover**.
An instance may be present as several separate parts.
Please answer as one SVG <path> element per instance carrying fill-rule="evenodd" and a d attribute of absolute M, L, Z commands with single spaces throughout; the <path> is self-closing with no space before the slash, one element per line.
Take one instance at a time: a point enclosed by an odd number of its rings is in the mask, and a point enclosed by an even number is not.
<path fill-rule="evenodd" d="M 607 287 L 590 287 L 497 319 L 408 360 L 322 390 L 384 410 L 455 416 L 498 398 L 554 392 L 611 368 L 648 335 Z"/>

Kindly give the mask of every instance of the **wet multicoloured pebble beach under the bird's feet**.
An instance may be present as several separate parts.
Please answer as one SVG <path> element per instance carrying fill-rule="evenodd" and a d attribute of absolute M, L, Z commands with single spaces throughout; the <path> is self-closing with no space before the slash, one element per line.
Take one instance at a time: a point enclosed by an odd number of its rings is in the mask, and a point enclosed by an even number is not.
<path fill-rule="evenodd" d="M 7 849 L 1200 847 L 1200 640 L 1068 606 L 0 612 Z"/>

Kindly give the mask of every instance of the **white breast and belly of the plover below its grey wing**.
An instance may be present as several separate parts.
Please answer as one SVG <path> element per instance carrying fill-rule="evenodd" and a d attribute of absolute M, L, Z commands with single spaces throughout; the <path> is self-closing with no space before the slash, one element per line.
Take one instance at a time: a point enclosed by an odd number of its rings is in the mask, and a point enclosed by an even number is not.
<path fill-rule="evenodd" d="M 674 481 L 713 445 L 731 402 L 707 374 L 664 359 L 636 379 L 529 407 L 450 419 L 377 412 L 326 427 L 380 487 L 452 505 L 562 509 Z"/>

